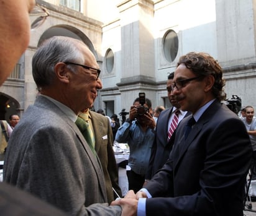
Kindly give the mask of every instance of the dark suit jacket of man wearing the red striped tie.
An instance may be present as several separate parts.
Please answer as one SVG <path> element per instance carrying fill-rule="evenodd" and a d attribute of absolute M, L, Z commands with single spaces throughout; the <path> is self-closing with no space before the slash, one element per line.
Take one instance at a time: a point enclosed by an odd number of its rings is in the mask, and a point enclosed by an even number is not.
<path fill-rule="evenodd" d="M 168 108 L 160 113 L 157 119 L 157 127 L 155 128 L 155 140 L 151 149 L 149 160 L 149 168 L 145 176 L 146 179 L 151 179 L 155 173 L 167 162 L 171 149 L 173 148 L 175 132 L 168 140 L 168 121 L 170 119 L 173 108 Z M 187 112 L 186 116 L 191 113 Z M 176 130 L 175 130 L 176 131 Z"/>

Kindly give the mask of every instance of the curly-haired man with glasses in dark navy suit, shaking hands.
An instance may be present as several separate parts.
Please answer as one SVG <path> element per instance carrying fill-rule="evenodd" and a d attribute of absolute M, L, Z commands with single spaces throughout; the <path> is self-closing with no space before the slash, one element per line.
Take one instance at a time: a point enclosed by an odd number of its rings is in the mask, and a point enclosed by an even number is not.
<path fill-rule="evenodd" d="M 167 163 L 137 192 L 139 201 L 112 204 L 133 205 L 130 212 L 147 216 L 242 216 L 252 146 L 242 121 L 221 103 L 221 66 L 209 54 L 188 53 L 171 87 L 181 110 L 193 116 L 178 125 Z"/>

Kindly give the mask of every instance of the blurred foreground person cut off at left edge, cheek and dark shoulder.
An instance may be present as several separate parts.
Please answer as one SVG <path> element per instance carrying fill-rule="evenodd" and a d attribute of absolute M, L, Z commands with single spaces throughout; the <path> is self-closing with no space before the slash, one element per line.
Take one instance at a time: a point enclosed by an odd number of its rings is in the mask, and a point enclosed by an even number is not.
<path fill-rule="evenodd" d="M 0 85 L 11 74 L 12 69 L 29 44 L 29 13 L 40 11 L 38 9 L 33 10 L 35 7 L 37 6 L 35 6 L 34 0 L 0 2 Z M 40 22 L 42 24 L 42 20 Z M 3 216 L 66 215 L 39 198 L 6 183 L 0 183 L 0 199 L 0 212 Z"/>

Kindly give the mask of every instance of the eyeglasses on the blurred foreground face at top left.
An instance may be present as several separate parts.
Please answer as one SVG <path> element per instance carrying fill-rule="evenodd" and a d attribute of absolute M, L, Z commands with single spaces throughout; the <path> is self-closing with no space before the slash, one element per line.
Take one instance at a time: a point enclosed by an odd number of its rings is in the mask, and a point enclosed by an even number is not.
<path fill-rule="evenodd" d="M 32 11 L 30 11 L 29 15 L 30 15 L 30 17 L 38 16 L 37 19 L 35 19 L 34 22 L 32 22 L 32 24 L 30 26 L 31 30 L 34 30 L 35 28 L 42 25 L 43 22 L 45 22 L 48 15 L 50 15 L 50 14 L 45 7 L 37 4 L 32 9 Z"/>

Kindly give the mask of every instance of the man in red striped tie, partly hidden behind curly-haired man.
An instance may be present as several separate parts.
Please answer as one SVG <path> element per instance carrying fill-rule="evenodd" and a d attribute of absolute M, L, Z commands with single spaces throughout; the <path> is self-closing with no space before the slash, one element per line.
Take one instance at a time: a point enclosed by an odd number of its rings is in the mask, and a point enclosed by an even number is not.
<path fill-rule="evenodd" d="M 178 113 L 178 123 L 190 114 L 190 112 L 180 110 L 180 105 L 178 104 L 173 92 L 171 90 L 171 85 L 173 84 L 174 72 L 168 75 L 167 80 L 167 92 L 168 99 L 172 105 L 171 108 L 163 110 L 157 120 L 157 127 L 155 128 L 155 140 L 152 145 L 151 155 L 149 160 L 149 168 L 145 176 L 146 182 L 149 181 L 155 175 L 157 170 L 162 168 L 162 166 L 167 162 L 170 155 L 171 149 L 173 148 L 175 132 L 168 137 L 168 131 L 170 131 L 171 121 L 175 117 L 175 112 Z M 175 131 L 175 128 L 173 128 Z"/>

